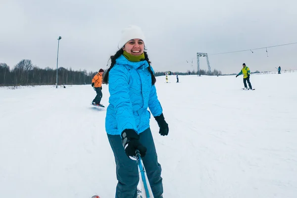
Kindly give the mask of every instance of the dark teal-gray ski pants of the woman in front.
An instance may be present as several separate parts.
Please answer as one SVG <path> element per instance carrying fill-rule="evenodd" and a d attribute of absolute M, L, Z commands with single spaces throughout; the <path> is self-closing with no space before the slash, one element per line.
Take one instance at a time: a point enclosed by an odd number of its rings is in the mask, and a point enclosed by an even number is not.
<path fill-rule="evenodd" d="M 139 182 L 139 172 L 136 160 L 132 160 L 126 155 L 120 135 L 107 134 L 107 137 L 116 163 L 116 177 L 118 184 L 116 187 L 115 198 L 136 198 L 137 185 Z M 140 142 L 147 148 L 146 155 L 142 159 L 153 196 L 154 198 L 162 198 L 163 185 L 161 165 L 157 160 L 157 153 L 149 128 L 140 133 Z"/>

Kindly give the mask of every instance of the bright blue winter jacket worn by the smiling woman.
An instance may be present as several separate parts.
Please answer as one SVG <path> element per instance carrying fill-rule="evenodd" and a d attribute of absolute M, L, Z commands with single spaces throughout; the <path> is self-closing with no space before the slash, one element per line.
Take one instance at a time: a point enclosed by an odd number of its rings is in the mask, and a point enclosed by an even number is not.
<path fill-rule="evenodd" d="M 120 135 L 125 129 L 134 129 L 139 134 L 149 127 L 148 107 L 153 116 L 162 113 L 148 66 L 146 60 L 131 62 L 121 55 L 110 69 L 110 97 L 105 118 L 108 134 Z"/>

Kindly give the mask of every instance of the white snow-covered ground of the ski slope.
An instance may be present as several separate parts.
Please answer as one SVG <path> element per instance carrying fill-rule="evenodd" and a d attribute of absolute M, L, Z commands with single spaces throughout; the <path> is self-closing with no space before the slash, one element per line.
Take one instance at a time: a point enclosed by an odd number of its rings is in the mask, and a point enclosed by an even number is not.
<path fill-rule="evenodd" d="M 150 125 L 164 198 L 296 198 L 297 72 L 157 77 L 169 124 Z M 103 85 L 101 103 L 108 105 Z M 0 89 L 0 198 L 114 198 L 106 110 L 91 85 Z"/>

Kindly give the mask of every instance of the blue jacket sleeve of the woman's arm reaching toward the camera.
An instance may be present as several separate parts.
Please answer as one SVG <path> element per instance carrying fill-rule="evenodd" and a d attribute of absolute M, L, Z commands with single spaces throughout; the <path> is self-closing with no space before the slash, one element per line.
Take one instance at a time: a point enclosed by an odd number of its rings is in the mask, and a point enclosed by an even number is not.
<path fill-rule="evenodd" d="M 133 129 L 137 132 L 129 96 L 128 71 L 114 66 L 108 74 L 109 104 L 114 106 L 118 130 Z"/>

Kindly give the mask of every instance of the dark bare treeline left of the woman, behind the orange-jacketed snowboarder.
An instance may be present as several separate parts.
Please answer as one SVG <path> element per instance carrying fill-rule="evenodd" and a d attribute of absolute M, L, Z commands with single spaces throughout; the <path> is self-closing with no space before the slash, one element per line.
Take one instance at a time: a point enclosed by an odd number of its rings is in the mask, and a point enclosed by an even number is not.
<path fill-rule="evenodd" d="M 71 68 L 58 68 L 58 85 L 91 84 L 97 72 L 74 71 Z M 0 63 L 0 86 L 18 85 L 55 85 L 56 69 L 39 68 L 31 60 L 23 59 L 12 69 L 6 63 Z"/>

